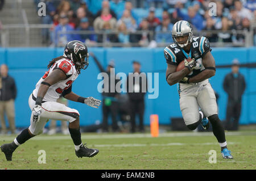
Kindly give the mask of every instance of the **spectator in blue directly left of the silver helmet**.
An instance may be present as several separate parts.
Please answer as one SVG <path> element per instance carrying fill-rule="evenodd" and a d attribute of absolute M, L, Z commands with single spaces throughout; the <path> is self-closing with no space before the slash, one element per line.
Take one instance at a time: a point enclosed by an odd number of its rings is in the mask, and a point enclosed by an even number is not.
<path fill-rule="evenodd" d="M 171 23 L 169 16 L 163 16 L 162 24 L 155 28 L 155 41 L 156 43 L 171 43 L 173 42 L 170 36 L 172 27 L 174 24 Z"/>

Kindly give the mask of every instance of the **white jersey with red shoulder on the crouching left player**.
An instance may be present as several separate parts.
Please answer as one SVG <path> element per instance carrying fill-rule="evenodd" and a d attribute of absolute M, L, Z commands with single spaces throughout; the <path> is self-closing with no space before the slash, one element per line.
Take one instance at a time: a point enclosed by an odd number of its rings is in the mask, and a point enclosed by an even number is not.
<path fill-rule="evenodd" d="M 48 91 L 46 92 L 46 95 L 44 95 L 43 101 L 53 101 L 56 102 L 57 99 L 60 98 L 60 95 L 62 92 L 66 89 L 68 89 L 73 81 L 78 77 L 78 73 L 76 70 L 75 65 L 71 60 L 68 60 L 67 58 L 62 58 L 58 61 L 56 61 L 51 68 L 44 74 L 42 78 L 36 83 L 36 89 L 33 91 L 33 95 L 38 95 L 38 90 L 41 85 L 41 83 L 44 81 L 44 79 L 48 76 L 48 74 L 51 74 L 51 72 L 55 69 L 62 70 L 66 75 L 67 79 L 57 82 L 54 85 L 50 86 Z"/>

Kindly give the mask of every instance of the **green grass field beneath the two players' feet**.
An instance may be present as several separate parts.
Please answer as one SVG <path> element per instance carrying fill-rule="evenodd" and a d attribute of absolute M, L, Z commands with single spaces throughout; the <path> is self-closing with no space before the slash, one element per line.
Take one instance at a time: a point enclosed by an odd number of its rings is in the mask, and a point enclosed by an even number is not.
<path fill-rule="evenodd" d="M 0 145 L 15 136 L 1 136 Z M 70 136 L 40 135 L 19 146 L 13 161 L 0 152 L 0 169 L 256 169 L 256 132 L 226 133 L 234 159 L 223 159 L 211 132 L 167 132 L 157 138 L 147 134 L 82 134 L 89 148 L 100 150 L 93 158 L 77 158 Z M 38 163 L 39 150 L 46 163 Z M 210 150 L 217 163 L 209 163 Z"/>

